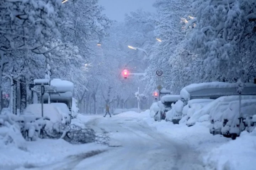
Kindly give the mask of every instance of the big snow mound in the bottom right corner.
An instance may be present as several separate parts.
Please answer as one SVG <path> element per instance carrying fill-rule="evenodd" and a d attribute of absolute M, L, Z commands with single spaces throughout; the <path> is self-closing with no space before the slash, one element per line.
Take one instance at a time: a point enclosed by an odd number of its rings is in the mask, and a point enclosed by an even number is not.
<path fill-rule="evenodd" d="M 256 131 L 255 131 L 256 132 Z M 204 157 L 207 166 L 216 170 L 255 170 L 256 136 L 246 131 L 234 141 L 222 144 Z"/>

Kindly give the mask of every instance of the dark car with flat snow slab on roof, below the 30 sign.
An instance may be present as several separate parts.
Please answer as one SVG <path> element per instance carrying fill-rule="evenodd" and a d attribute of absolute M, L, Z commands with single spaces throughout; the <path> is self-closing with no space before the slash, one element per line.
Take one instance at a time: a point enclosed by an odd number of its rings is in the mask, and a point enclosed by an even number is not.
<path fill-rule="evenodd" d="M 159 110 L 154 115 L 155 121 L 166 120 L 166 113 L 171 110 L 172 105 L 175 104 L 180 98 L 180 95 L 165 95 L 158 102 Z"/>

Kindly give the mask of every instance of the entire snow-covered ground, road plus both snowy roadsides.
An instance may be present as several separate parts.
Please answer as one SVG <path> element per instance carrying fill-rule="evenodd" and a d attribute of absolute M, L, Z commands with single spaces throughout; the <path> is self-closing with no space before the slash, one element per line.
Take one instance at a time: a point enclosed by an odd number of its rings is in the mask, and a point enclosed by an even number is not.
<path fill-rule="evenodd" d="M 72 124 L 106 133 L 110 146 L 72 145 L 63 139 L 26 141 L 27 150 L 0 144 L 0 170 L 255 170 L 256 166 L 256 130 L 231 141 L 211 135 L 209 122 L 192 127 L 155 122 L 148 111 L 111 118 L 79 114 Z"/>

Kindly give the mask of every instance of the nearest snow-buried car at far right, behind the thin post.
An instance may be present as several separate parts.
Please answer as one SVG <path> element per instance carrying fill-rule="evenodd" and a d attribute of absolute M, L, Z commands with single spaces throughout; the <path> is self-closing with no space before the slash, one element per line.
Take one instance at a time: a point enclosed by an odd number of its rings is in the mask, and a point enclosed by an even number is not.
<path fill-rule="evenodd" d="M 248 124 L 251 124 L 249 120 L 251 120 L 252 116 L 255 114 L 256 100 L 241 100 L 241 120 L 239 120 L 239 101 L 231 102 L 222 117 L 222 135 L 231 137 L 232 139 L 240 136 L 240 132 L 244 131 Z"/>

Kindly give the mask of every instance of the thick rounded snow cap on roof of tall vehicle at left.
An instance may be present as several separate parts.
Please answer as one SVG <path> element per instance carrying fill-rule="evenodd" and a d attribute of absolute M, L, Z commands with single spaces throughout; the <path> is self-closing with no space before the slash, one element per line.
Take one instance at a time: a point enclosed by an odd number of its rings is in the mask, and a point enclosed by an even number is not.
<path fill-rule="evenodd" d="M 56 87 L 56 91 L 59 93 L 73 92 L 74 83 L 66 80 L 54 78 L 50 81 L 51 86 Z"/>

